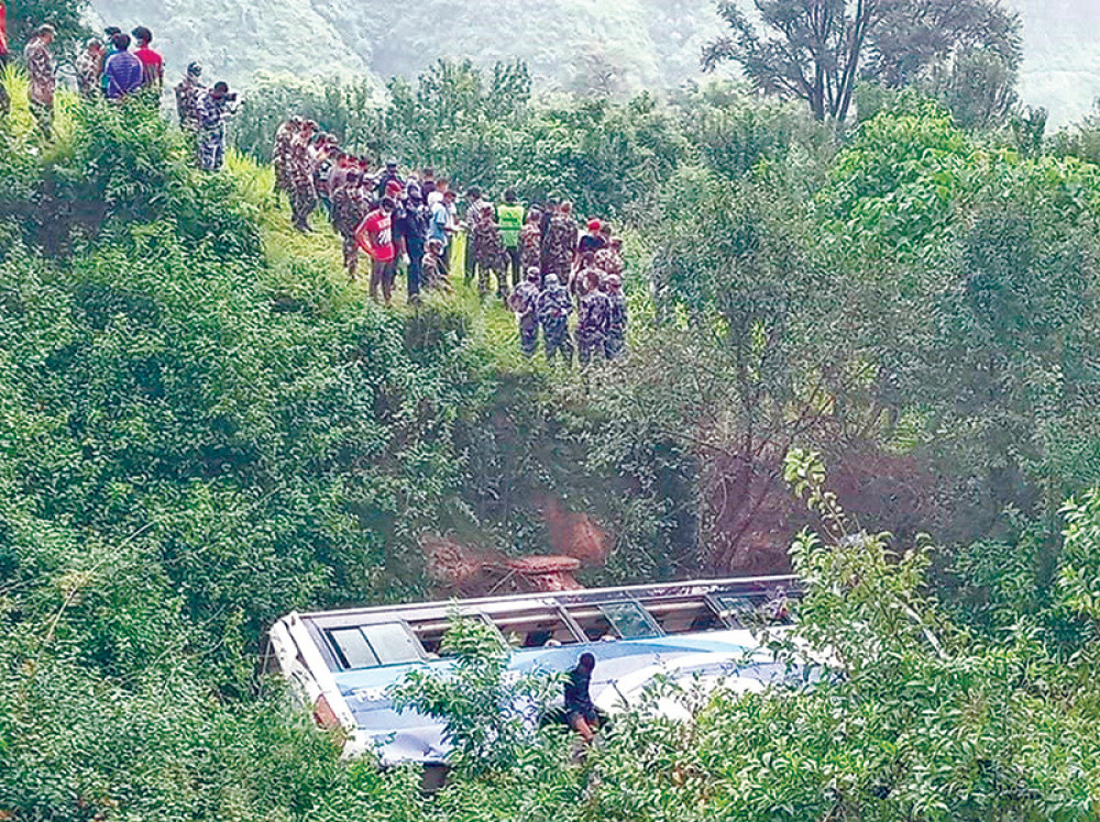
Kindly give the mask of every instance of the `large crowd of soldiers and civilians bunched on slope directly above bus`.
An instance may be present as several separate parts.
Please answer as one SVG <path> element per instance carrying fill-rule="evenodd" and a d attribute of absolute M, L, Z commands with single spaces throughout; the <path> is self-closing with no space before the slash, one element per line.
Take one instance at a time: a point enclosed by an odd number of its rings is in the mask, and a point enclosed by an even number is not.
<path fill-rule="evenodd" d="M 590 220 L 582 232 L 570 202 L 528 206 L 514 189 L 494 204 L 472 186 L 460 209 L 457 192 L 433 169 L 403 176 L 389 162 L 372 170 L 366 158 L 299 116 L 279 126 L 273 156 L 276 191 L 289 200 L 294 227 L 309 232 L 310 216 L 326 212 L 352 280 L 365 253 L 373 299 L 392 302 L 399 265 L 410 303 L 425 291 L 449 291 L 461 267 L 483 297 L 495 285 L 516 313 L 524 354 L 537 353 L 540 333 L 551 363 L 572 363 L 574 347 L 582 365 L 623 353 L 622 241 L 606 222 Z"/>

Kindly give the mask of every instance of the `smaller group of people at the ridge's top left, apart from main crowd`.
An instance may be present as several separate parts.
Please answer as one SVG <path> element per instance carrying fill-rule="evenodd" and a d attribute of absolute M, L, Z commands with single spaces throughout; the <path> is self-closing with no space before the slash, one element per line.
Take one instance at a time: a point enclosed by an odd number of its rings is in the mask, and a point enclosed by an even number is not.
<path fill-rule="evenodd" d="M 0 0 L 0 68 L 10 59 L 7 36 L 7 7 Z M 44 138 L 53 136 L 54 96 L 57 65 L 52 25 L 40 25 L 23 49 L 29 77 L 28 103 Z M 102 37 L 88 40 L 75 60 L 76 84 L 88 100 L 103 98 L 122 102 L 131 98 L 160 108 L 164 91 L 164 57 L 152 46 L 153 32 L 139 25 L 130 34 L 108 26 Z M 221 168 L 226 157 L 226 122 L 235 112 L 237 96 L 229 85 L 202 82 L 202 66 L 191 63 L 176 86 L 179 124 L 191 135 L 198 165 L 207 171 Z M 7 89 L 0 84 L 0 116 L 10 108 Z"/>

